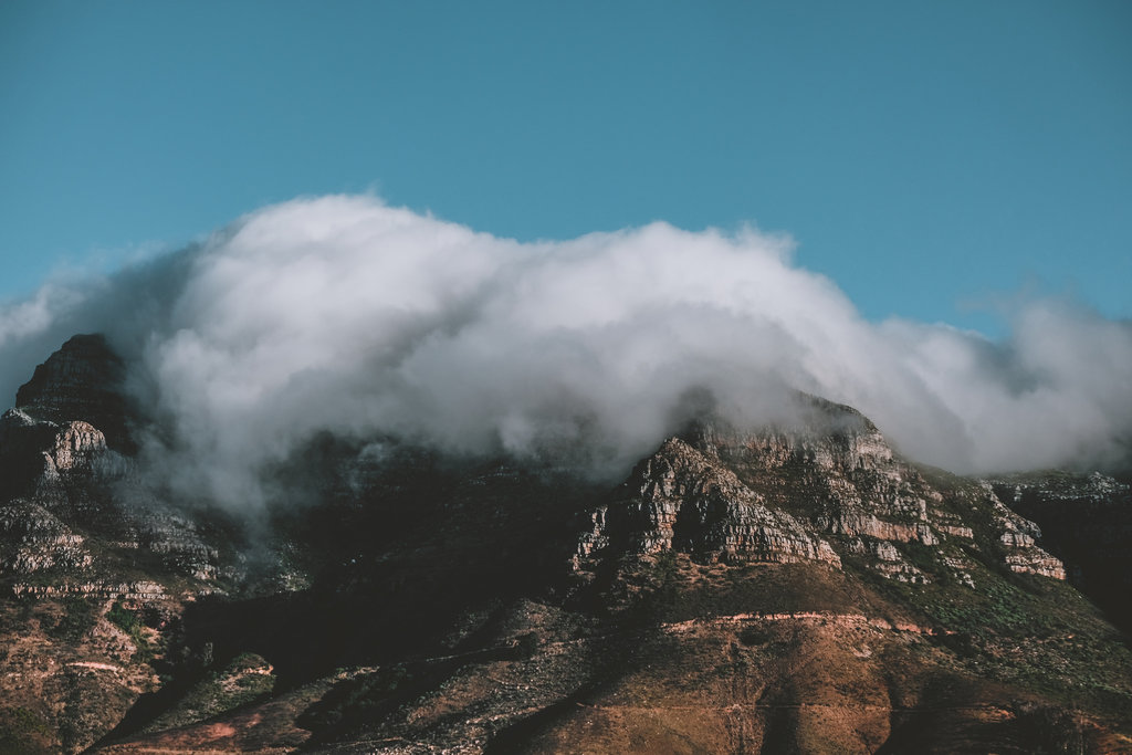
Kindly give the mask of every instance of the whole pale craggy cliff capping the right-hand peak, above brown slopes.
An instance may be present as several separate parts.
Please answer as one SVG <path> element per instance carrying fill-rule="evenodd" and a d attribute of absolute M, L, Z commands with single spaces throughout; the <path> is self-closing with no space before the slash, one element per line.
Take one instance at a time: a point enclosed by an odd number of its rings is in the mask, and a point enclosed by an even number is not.
<path fill-rule="evenodd" d="M 976 514 L 989 524 L 986 556 L 1015 573 L 1065 578 L 1062 563 L 1038 546 L 1040 529 L 990 484 L 933 486 L 848 406 L 799 395 L 792 414 L 789 424 L 756 431 L 696 419 L 590 513 L 576 568 L 602 551 L 833 567 L 849 557 L 889 578 L 925 583 L 932 577 L 906 551 L 926 547 L 969 583 L 967 551 L 980 546 L 964 515 Z"/>

